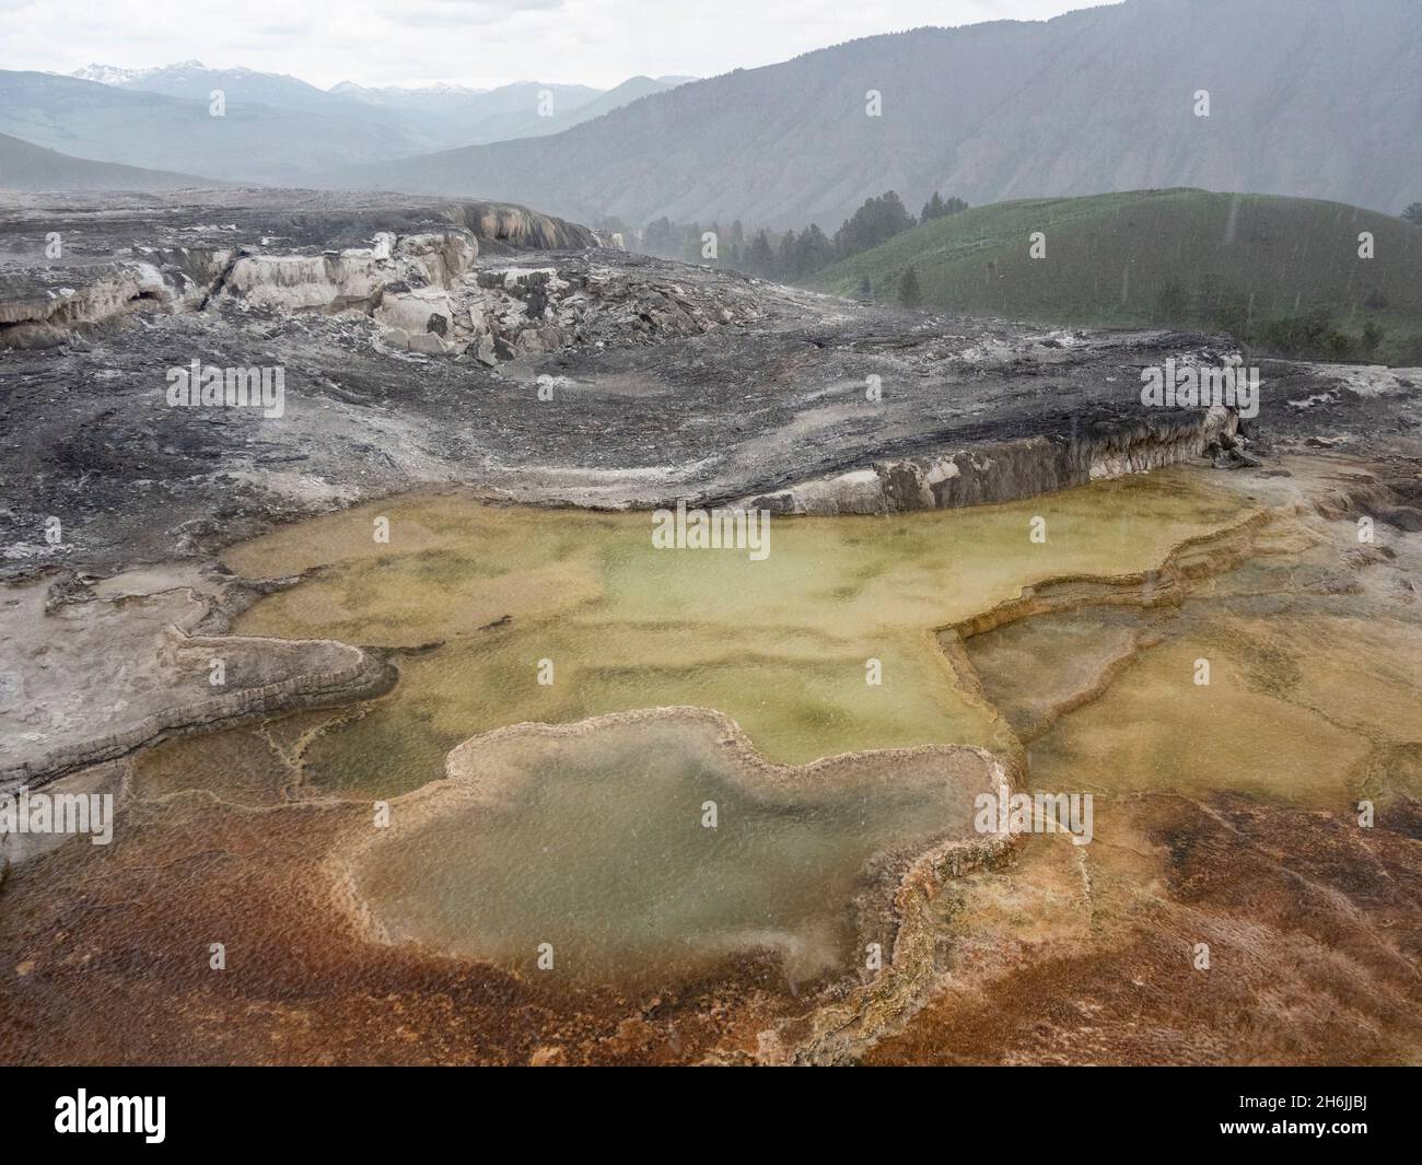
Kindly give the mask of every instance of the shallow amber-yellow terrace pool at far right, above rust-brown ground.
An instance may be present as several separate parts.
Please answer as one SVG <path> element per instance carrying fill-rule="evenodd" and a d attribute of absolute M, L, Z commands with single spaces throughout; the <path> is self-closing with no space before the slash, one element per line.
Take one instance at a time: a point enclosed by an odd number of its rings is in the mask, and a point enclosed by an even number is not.
<path fill-rule="evenodd" d="M 1180 606 L 1068 610 L 971 640 L 988 697 L 1031 737 L 1031 782 L 1344 815 L 1422 795 L 1422 613 L 1385 580 L 1320 585 L 1357 542 L 1351 522 L 1317 533 Z"/>

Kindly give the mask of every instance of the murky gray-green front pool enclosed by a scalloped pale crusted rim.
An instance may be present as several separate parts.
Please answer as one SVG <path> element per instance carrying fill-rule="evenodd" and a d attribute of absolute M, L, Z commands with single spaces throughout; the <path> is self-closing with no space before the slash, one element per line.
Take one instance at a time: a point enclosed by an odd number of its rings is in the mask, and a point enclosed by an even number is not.
<path fill-rule="evenodd" d="M 751 947 L 793 979 L 852 970 L 846 906 L 870 859 L 961 829 L 971 791 L 943 772 L 755 788 L 715 737 L 643 723 L 529 743 L 513 789 L 392 836 L 356 886 L 390 937 L 516 970 L 542 943 L 579 977 L 691 972 Z"/>

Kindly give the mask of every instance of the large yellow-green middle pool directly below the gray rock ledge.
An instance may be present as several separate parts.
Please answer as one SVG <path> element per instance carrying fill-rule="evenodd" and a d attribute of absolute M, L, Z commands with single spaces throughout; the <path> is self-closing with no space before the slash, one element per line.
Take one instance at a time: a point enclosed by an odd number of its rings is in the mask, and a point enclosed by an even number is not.
<path fill-rule="evenodd" d="M 303 522 L 228 560 L 253 578 L 321 568 L 257 603 L 243 634 L 442 643 L 401 659 L 395 691 L 307 754 L 314 787 L 394 795 L 439 777 L 478 733 L 671 704 L 728 714 L 782 762 L 990 747 L 988 710 L 957 691 L 933 629 L 1048 576 L 1143 569 L 1241 512 L 1197 475 L 1158 474 L 966 511 L 776 519 L 769 558 L 752 562 L 654 549 L 648 514 L 438 495 Z M 388 545 L 373 539 L 377 516 Z"/>

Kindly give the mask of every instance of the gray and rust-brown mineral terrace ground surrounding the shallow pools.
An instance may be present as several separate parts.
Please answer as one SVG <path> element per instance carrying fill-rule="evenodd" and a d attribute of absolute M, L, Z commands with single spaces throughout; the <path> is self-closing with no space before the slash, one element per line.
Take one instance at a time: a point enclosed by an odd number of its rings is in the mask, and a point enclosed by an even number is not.
<path fill-rule="evenodd" d="M 1166 358 L 1257 363 L 1258 417 L 1143 407 L 1140 371 Z M 175 374 L 195 361 L 199 373 L 280 370 L 279 415 L 171 403 Z M 1253 596 L 1239 620 L 1293 612 L 1376 629 L 1384 612 L 1396 620 L 1391 642 L 1411 643 L 1419 425 L 1422 370 L 1256 361 L 1224 337 L 852 303 L 629 255 L 518 206 L 243 189 L 88 205 L 6 196 L 0 789 L 109 789 L 134 834 L 111 858 L 7 844 L 0 997 L 30 1006 L 0 1009 L 0 1057 L 172 1063 L 201 1033 L 203 1058 L 257 1063 L 1415 1058 L 1422 744 L 1396 723 L 1405 697 L 1375 737 L 1349 730 L 1372 741 L 1357 771 L 1374 771 L 1391 807 L 1364 841 L 1345 828 L 1351 787 L 1281 807 L 1224 778 L 1106 781 L 1103 819 L 1126 841 L 1091 858 L 954 835 L 886 862 L 875 899 L 894 927 L 883 979 L 805 994 L 779 986 L 764 952 L 661 994 L 569 994 L 377 943 L 368 917 L 313 881 L 313 853 L 337 855 L 328 865 L 343 871 L 356 861 L 340 856 L 358 825 L 350 802 L 286 770 L 246 801 L 181 782 L 145 795 L 135 764 L 154 745 L 201 750 L 213 733 L 247 730 L 294 758 L 343 710 L 388 698 L 401 669 L 414 674 L 438 646 L 235 633 L 324 563 L 256 576 L 225 559 L 229 548 L 319 515 L 458 489 L 482 505 L 749 504 L 776 521 L 855 522 L 1193 471 L 1239 514 L 1182 535 L 1159 562 L 1020 587 L 923 629 L 995 725 L 991 752 L 975 745 L 988 760 L 973 761 L 974 780 L 1000 771 L 991 761 L 1030 787 L 1038 767 L 1094 762 L 1068 731 L 1076 710 L 1126 700 L 1116 677 L 1148 676 L 1142 660 L 1165 659 L 1190 620 L 1192 633 L 1233 644 L 1226 656 L 1256 642 L 1243 622 L 1192 606 L 1202 597 Z M 1376 542 L 1352 539 L 1361 518 Z M 1290 569 L 1264 579 L 1251 563 L 1268 555 Z M 1160 609 L 1185 623 L 1160 622 Z M 1084 632 L 1071 622 L 1082 610 L 1118 613 L 1092 615 Z M 1089 650 L 1061 649 L 1082 634 Z M 1277 634 L 1266 636 L 1276 647 Z M 1357 650 L 1385 660 L 1386 639 Z M 1280 659 L 1258 647 L 1239 669 L 1294 666 Z M 1379 664 L 1415 696 L 1411 666 Z M 1334 716 L 1340 698 L 1311 707 Z M 1091 740 L 1150 714 L 1122 706 Z M 1197 731 L 1209 737 L 1210 721 Z M 1338 743 L 1318 747 L 1341 755 Z M 203 755 L 216 771 L 216 754 Z M 451 764 L 449 780 L 466 775 Z M 219 835 L 220 852 L 202 841 Z M 239 861 L 257 851 L 260 869 Z M 154 881 L 159 855 L 181 866 L 166 883 Z M 111 862 L 102 889 L 84 889 L 100 885 L 84 865 L 98 861 Z M 139 898 L 146 912 L 125 913 Z M 121 957 L 206 935 L 239 900 L 253 917 L 267 912 L 267 929 L 260 973 L 222 989 L 235 994 L 213 996 L 199 972 L 139 974 Z M 310 917 L 324 919 L 320 933 Z M 1172 960 L 1204 932 L 1257 952 L 1257 990 L 1179 986 Z M 1358 980 L 1371 987 L 1348 994 Z M 1266 1004 L 1241 1026 L 1246 996 Z M 394 1036 L 378 1027 L 391 1007 L 405 1020 Z M 166 1018 L 98 1050 L 64 1018 L 112 1009 L 117 1023 L 125 1011 Z M 240 1031 L 223 1024 L 237 1016 Z"/>

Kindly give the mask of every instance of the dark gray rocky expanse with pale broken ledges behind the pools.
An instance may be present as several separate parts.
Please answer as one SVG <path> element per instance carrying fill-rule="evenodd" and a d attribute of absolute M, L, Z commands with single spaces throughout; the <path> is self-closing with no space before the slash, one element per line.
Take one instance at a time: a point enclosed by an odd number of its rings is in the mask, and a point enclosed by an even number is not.
<path fill-rule="evenodd" d="M 0 572 L 215 553 L 429 485 L 880 512 L 1179 459 L 1244 465 L 1304 441 L 1416 445 L 1415 371 L 1270 361 L 1261 413 L 1240 424 L 1140 401 L 1148 366 L 1234 358 L 1221 337 L 903 312 L 616 249 L 529 250 L 593 236 L 519 208 L 205 199 L 31 199 L 0 219 L 4 253 L 33 256 L 0 267 Z M 55 229 L 68 249 L 47 263 Z M 282 414 L 171 407 L 166 378 L 193 360 L 279 367 Z"/>

